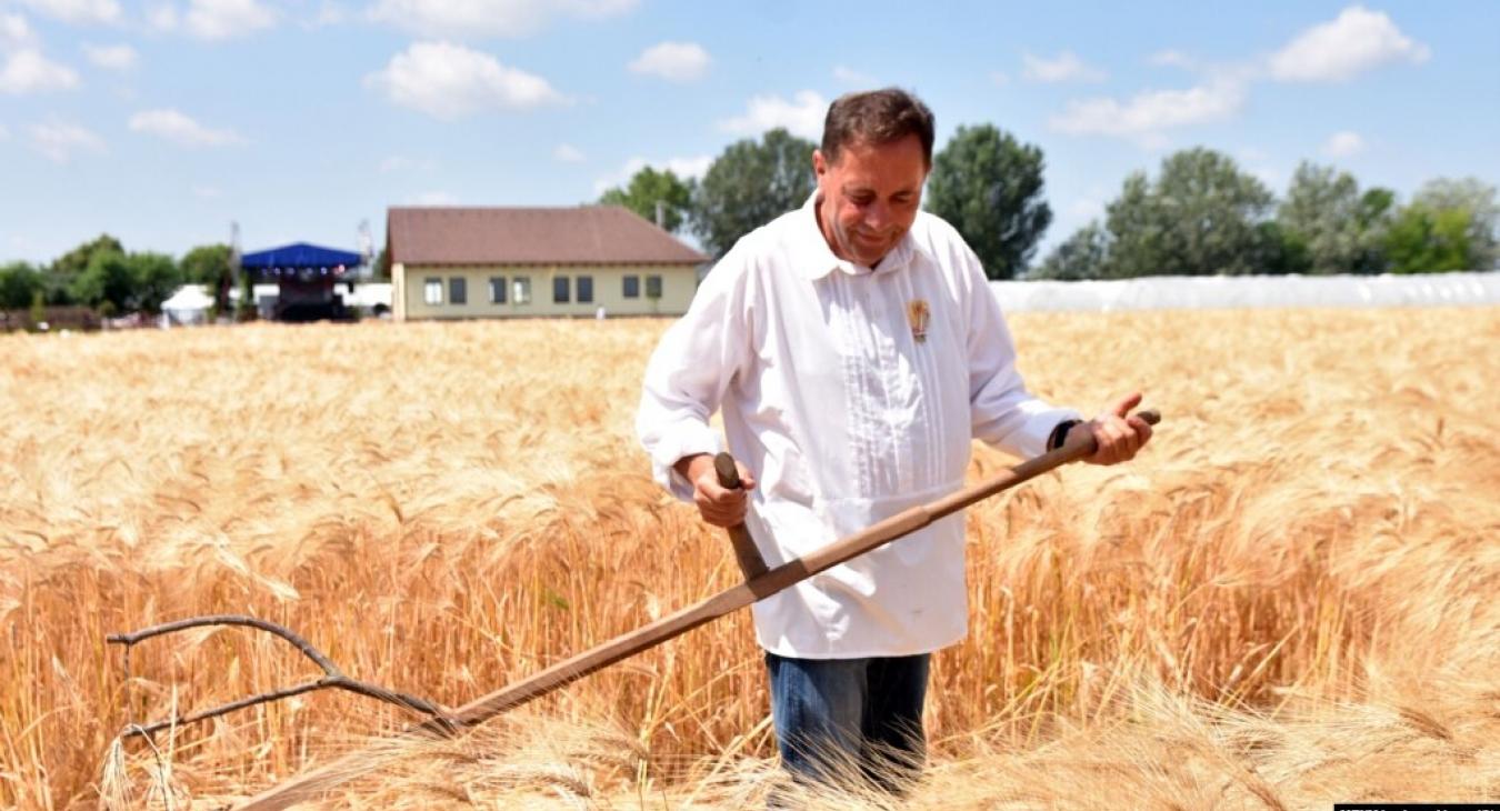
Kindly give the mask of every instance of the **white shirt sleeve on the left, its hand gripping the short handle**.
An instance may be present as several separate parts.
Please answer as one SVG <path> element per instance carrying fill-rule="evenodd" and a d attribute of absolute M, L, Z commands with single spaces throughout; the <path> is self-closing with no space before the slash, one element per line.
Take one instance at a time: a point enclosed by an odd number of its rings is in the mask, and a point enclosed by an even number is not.
<path fill-rule="evenodd" d="M 693 499 L 693 486 L 674 465 L 724 450 L 708 420 L 750 357 L 741 255 L 730 250 L 708 273 L 687 315 L 668 328 L 646 363 L 636 435 L 657 483 L 682 501 Z"/>

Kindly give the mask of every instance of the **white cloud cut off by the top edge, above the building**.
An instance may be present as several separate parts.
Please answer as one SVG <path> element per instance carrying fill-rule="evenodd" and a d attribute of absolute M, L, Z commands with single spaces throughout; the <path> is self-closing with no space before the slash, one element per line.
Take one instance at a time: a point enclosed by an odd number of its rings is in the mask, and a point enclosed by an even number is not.
<path fill-rule="evenodd" d="M 634 9 L 638 0 L 376 0 L 376 22 L 429 37 L 518 37 L 566 15 L 603 19 Z"/>

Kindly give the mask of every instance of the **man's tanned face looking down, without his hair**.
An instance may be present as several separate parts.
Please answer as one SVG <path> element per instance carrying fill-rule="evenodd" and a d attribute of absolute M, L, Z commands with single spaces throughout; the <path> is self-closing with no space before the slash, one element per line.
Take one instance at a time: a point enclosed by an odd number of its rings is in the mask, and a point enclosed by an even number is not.
<path fill-rule="evenodd" d="M 844 144 L 838 162 L 813 153 L 818 219 L 828 247 L 840 259 L 874 267 L 916 220 L 927 162 L 922 142 L 908 135 L 890 144 Z"/>

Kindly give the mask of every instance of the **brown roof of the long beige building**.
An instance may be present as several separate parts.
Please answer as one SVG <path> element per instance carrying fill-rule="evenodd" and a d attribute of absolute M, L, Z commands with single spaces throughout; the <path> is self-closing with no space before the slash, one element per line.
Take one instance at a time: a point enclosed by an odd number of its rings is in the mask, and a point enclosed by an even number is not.
<path fill-rule="evenodd" d="M 620 205 L 390 208 L 386 238 L 393 264 L 696 265 L 708 261 Z"/>

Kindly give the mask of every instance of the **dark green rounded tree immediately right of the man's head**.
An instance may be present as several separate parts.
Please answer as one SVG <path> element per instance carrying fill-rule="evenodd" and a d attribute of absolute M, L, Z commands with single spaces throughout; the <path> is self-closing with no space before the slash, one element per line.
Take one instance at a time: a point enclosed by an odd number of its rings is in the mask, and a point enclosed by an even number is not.
<path fill-rule="evenodd" d="M 1041 190 L 1038 147 L 993 124 L 960 126 L 933 156 L 927 210 L 958 229 L 990 279 L 1014 279 L 1052 223 Z"/>

